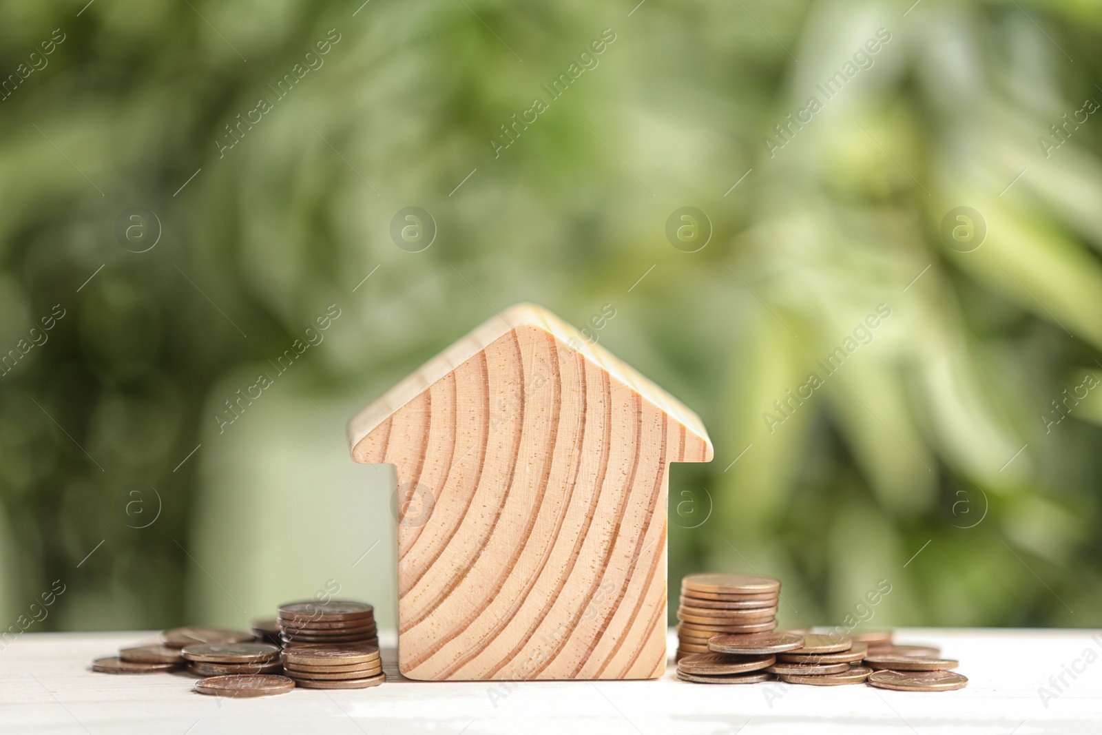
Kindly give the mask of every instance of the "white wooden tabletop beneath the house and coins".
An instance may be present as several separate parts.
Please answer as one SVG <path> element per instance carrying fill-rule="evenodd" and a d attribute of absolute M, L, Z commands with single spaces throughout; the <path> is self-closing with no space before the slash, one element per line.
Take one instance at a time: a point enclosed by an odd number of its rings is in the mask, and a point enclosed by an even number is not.
<path fill-rule="evenodd" d="M 389 681 L 381 687 L 255 700 L 196 694 L 194 678 L 182 673 L 88 668 L 93 658 L 155 638 L 24 634 L 0 652 L 0 733 L 1102 733 L 1102 633 L 1093 630 L 898 631 L 899 641 L 938 645 L 960 659 L 968 688 L 939 693 L 688 684 L 674 678 L 672 661 L 658 681 L 426 683 L 401 680 L 392 649 L 385 650 Z M 393 634 L 383 633 L 383 647 L 388 638 Z M 1081 669 L 1074 680 L 1066 673 L 1072 669 Z M 1041 687 L 1055 698 L 1042 701 Z"/>

